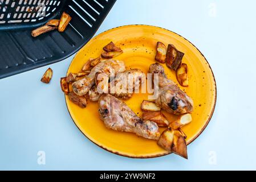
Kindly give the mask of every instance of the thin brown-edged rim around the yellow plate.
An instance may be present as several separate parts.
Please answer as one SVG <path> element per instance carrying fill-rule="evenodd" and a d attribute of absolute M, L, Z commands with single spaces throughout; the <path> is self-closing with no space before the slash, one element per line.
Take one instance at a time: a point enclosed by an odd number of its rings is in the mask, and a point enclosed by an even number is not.
<path fill-rule="evenodd" d="M 182 39 L 188 41 L 190 44 L 192 44 L 192 46 L 194 48 L 197 49 L 197 51 L 201 54 L 202 57 L 204 57 L 206 63 L 208 64 L 208 67 L 210 68 L 210 71 L 212 72 L 212 75 L 213 75 L 213 81 L 214 81 L 214 86 L 215 86 L 215 97 L 214 97 L 214 105 L 213 105 L 213 109 L 209 115 L 209 118 L 208 118 L 208 121 L 206 121 L 205 125 L 202 127 L 202 129 L 200 130 L 200 132 L 198 132 L 186 145 L 188 146 L 190 143 L 194 142 L 194 140 L 196 140 L 201 134 L 202 132 L 205 130 L 205 128 L 208 126 L 210 120 L 212 119 L 213 117 L 213 113 L 215 111 L 215 107 L 216 107 L 216 102 L 217 102 L 217 85 L 216 85 L 216 79 L 215 79 L 215 76 L 214 76 L 214 73 L 213 73 L 213 70 L 212 70 L 212 67 L 210 67 L 210 64 L 208 62 L 208 60 L 206 59 L 206 57 L 204 56 L 204 54 L 196 47 L 194 46 L 194 44 L 192 42 L 190 42 L 188 39 L 184 38 L 183 36 L 181 36 L 180 34 L 177 34 L 176 32 L 173 32 L 171 30 L 168 30 L 166 28 L 162 28 L 162 27 L 158 27 L 158 26 L 152 26 L 152 25 L 148 25 L 148 24 L 127 24 L 127 25 L 123 25 L 123 26 L 118 26 L 118 27 L 113 27 L 113 28 L 110 28 L 108 30 L 105 30 L 103 32 L 101 32 L 100 34 L 96 35 L 96 36 L 100 36 L 101 34 L 104 34 L 105 32 L 107 31 L 110 31 L 110 30 L 114 30 L 114 29 L 117 29 L 117 28 L 120 28 L 120 27 L 130 27 L 130 26 L 148 26 L 148 27 L 156 27 L 156 28 L 160 28 L 162 30 L 166 30 L 166 31 L 169 31 L 169 32 L 172 32 L 173 34 L 176 34 L 178 36 L 180 36 Z M 94 36 L 92 39 L 94 39 L 96 36 Z M 90 39 L 91 40 L 91 39 Z M 90 40 L 88 42 L 90 42 Z M 87 43 L 86 43 L 87 44 Z M 84 44 L 84 46 L 86 46 L 86 44 Z M 83 46 L 83 47 L 84 47 Z M 83 48 L 82 47 L 82 48 Z M 82 49 L 80 48 L 79 51 Z M 79 53 L 76 52 L 76 55 Z M 68 70 L 70 69 L 70 65 L 72 64 L 72 62 L 74 61 L 76 55 L 74 56 L 74 58 L 72 59 L 72 61 L 70 62 L 70 64 L 68 65 L 68 69 L 67 69 L 67 72 L 66 72 L 66 76 L 68 74 Z M 67 106 L 67 100 L 66 100 L 66 95 L 64 94 L 64 98 L 65 98 L 65 102 L 66 102 L 66 106 Z M 127 158 L 133 158 L 133 159 L 149 159 L 149 158 L 158 158 L 158 157 L 161 157 L 161 156 L 165 156 L 165 155 L 169 155 L 169 154 L 172 154 L 172 152 L 165 152 L 163 154 L 156 154 L 156 155 L 141 155 L 141 156 L 136 156 L 136 155 L 126 155 L 126 154 L 120 154 L 119 152 L 117 151 L 112 151 L 110 150 L 109 148 L 107 147 L 103 147 L 101 146 L 100 144 L 94 142 L 93 140 L 91 140 L 89 137 L 86 136 L 86 134 L 83 133 L 83 131 L 78 127 L 78 125 L 76 125 L 74 119 L 72 118 L 72 115 L 70 113 L 70 110 L 68 109 L 68 106 L 67 106 L 67 110 L 68 110 L 68 114 L 70 114 L 70 117 L 72 119 L 72 121 L 74 122 L 75 126 L 79 129 L 79 131 L 87 138 L 89 139 L 92 143 L 96 144 L 96 146 L 99 146 L 100 148 L 103 148 L 105 151 L 108 151 L 108 152 L 111 152 L 112 154 L 116 154 L 116 155 L 120 155 L 120 156 L 124 156 L 124 157 L 127 157 Z"/>

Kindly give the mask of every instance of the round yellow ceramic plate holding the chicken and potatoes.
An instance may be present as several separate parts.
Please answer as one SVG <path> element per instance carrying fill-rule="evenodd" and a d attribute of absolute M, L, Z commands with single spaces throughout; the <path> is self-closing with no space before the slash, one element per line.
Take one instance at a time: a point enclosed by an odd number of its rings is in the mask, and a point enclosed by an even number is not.
<path fill-rule="evenodd" d="M 181 87 L 194 101 L 193 121 L 182 127 L 189 144 L 198 137 L 208 125 L 216 104 L 216 83 L 213 72 L 205 57 L 196 47 L 182 36 L 159 27 L 131 25 L 113 28 L 91 39 L 76 54 L 67 73 L 77 73 L 90 57 L 98 57 L 102 48 L 114 42 L 124 53 L 115 59 L 123 60 L 127 68 L 139 68 L 148 72 L 149 65 L 155 63 L 156 43 L 160 41 L 166 46 L 171 43 L 185 53 L 183 63 L 188 65 L 189 87 Z M 165 64 L 167 76 L 177 82 L 176 75 Z M 148 94 L 133 94 L 125 101 L 129 107 L 141 116 L 140 104 L 147 100 Z M 159 146 L 156 140 L 138 137 L 136 134 L 107 129 L 100 120 L 97 102 L 89 102 L 85 109 L 73 104 L 66 96 L 67 107 L 76 126 L 92 142 L 115 154 L 131 158 L 153 158 L 169 154 Z M 170 120 L 173 115 L 164 113 Z M 164 128 L 160 128 L 163 131 Z M 188 151 L 189 153 L 189 151 Z"/>

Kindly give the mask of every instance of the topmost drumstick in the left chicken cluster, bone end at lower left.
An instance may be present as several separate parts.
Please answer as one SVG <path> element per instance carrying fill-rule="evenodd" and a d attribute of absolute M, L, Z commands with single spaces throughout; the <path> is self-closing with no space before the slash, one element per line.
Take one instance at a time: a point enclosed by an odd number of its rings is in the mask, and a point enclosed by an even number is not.
<path fill-rule="evenodd" d="M 72 84 L 72 88 L 74 93 L 79 96 L 84 96 L 95 84 L 95 74 L 96 73 L 106 73 L 108 75 L 112 75 L 116 73 L 121 73 L 125 71 L 125 65 L 123 61 L 117 60 L 106 60 L 97 64 L 94 68 L 92 68 L 90 74 L 85 78 L 76 81 Z"/>

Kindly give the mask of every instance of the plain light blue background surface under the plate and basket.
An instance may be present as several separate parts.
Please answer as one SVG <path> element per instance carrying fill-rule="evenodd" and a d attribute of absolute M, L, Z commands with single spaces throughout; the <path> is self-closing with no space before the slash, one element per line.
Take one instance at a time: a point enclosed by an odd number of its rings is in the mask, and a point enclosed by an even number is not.
<path fill-rule="evenodd" d="M 216 6 L 216 14 L 213 8 Z M 217 105 L 204 133 L 177 155 L 130 159 L 90 142 L 68 114 L 59 78 L 72 58 L 0 80 L 0 169 L 256 169 L 255 1 L 117 0 L 99 31 L 125 24 L 168 28 L 197 46 L 217 81 Z M 46 152 L 46 165 L 37 163 Z M 215 152 L 216 164 L 209 163 Z"/>

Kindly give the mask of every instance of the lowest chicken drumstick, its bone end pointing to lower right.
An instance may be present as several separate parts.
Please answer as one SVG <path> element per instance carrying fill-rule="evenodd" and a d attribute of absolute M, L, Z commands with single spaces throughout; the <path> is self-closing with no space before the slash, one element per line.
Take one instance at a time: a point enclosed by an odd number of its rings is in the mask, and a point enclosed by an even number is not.
<path fill-rule="evenodd" d="M 108 129 L 135 133 L 148 139 L 159 139 L 159 127 L 155 122 L 143 121 L 123 101 L 110 94 L 99 99 L 100 119 Z"/>

